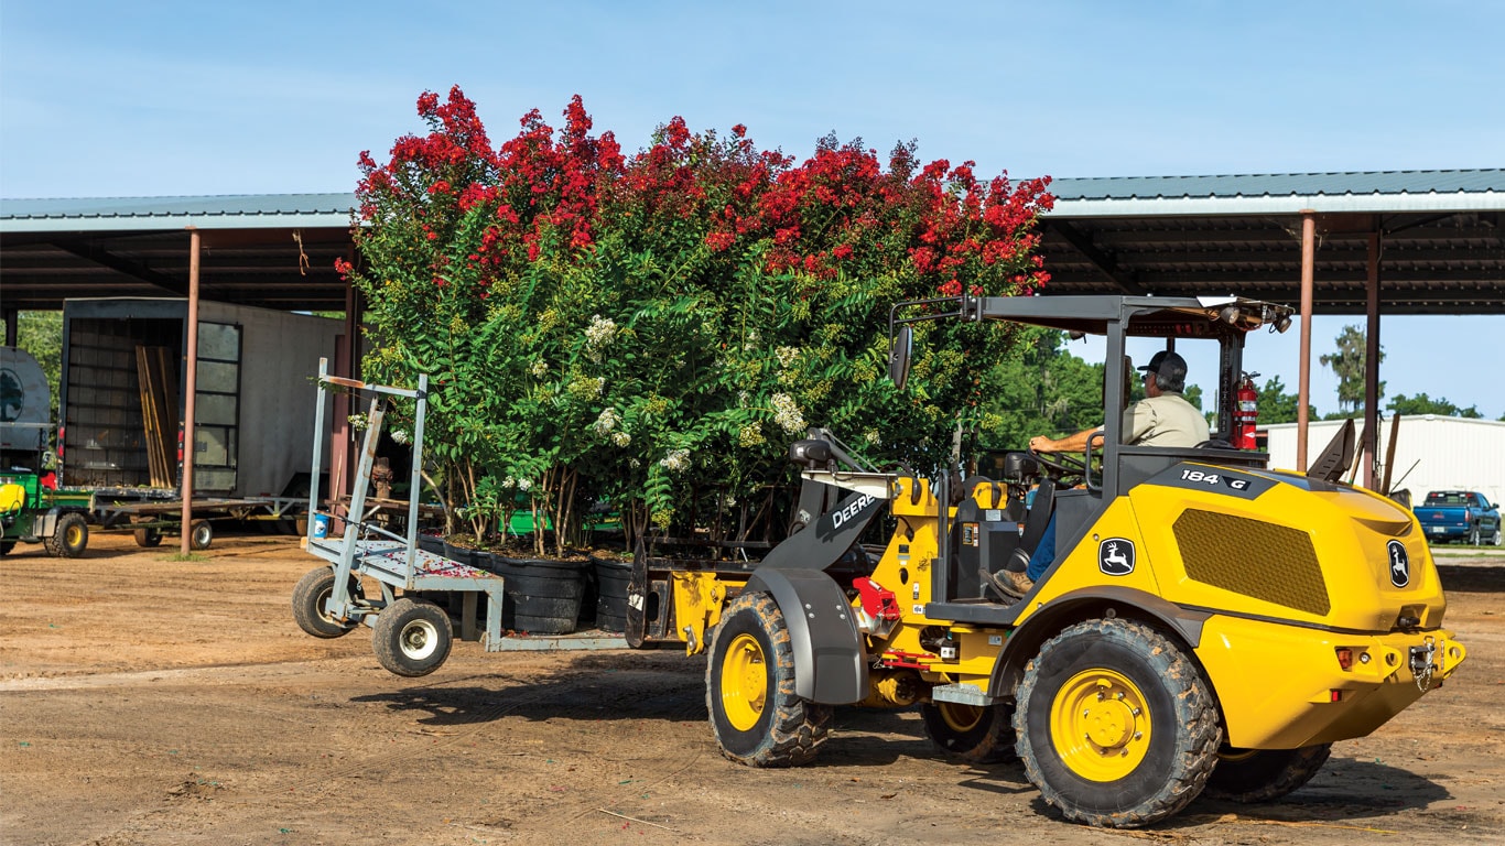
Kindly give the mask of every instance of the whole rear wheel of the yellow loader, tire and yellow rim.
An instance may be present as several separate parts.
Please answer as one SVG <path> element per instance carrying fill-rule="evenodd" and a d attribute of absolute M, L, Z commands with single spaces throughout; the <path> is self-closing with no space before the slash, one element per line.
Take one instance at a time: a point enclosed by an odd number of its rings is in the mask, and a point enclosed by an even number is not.
<path fill-rule="evenodd" d="M 1218 763 L 1210 685 L 1177 643 L 1136 620 L 1087 620 L 1047 640 L 1017 701 L 1025 775 L 1075 822 L 1159 822 L 1196 798 Z"/>

